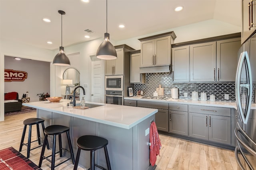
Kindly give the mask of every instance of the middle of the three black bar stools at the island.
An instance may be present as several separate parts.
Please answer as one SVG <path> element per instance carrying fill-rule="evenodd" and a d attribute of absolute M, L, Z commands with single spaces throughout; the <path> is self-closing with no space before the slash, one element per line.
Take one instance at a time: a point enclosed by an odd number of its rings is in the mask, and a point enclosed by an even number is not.
<path fill-rule="evenodd" d="M 64 148 L 62 148 L 62 142 L 61 142 L 61 134 L 65 133 L 67 135 L 67 139 L 68 139 L 68 147 L 69 150 L 66 150 Z M 42 161 L 43 159 L 48 160 L 49 162 L 51 162 L 51 170 L 54 170 L 54 168 L 56 166 L 59 166 L 60 164 L 63 164 L 64 162 L 72 159 L 72 162 L 74 164 L 75 159 L 74 159 L 74 152 L 72 149 L 72 145 L 71 145 L 71 140 L 70 140 L 70 135 L 69 135 L 69 127 L 66 126 L 62 126 L 62 125 L 50 125 L 48 127 L 46 127 L 44 129 L 44 143 L 43 143 L 43 147 L 42 147 L 42 152 L 41 152 L 41 156 L 40 156 L 40 160 L 39 160 L 39 168 L 42 166 Z M 49 156 L 44 156 L 44 150 L 45 150 L 45 146 L 47 145 L 47 137 L 48 135 L 53 135 L 53 142 L 52 142 L 52 154 Z M 59 136 L 59 151 L 56 152 L 56 135 Z M 70 153 L 70 158 L 64 160 L 63 162 L 60 162 L 58 165 L 55 166 L 55 154 L 60 153 L 60 157 L 62 157 L 62 150 L 65 150 L 66 152 Z M 50 160 L 48 157 L 52 156 L 52 159 Z"/>

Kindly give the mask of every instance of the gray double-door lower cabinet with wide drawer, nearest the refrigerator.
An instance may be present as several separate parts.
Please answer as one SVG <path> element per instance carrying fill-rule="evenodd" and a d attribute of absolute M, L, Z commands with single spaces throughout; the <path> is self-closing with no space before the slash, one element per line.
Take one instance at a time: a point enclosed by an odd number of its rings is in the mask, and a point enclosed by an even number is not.
<path fill-rule="evenodd" d="M 231 145 L 230 109 L 190 106 L 189 136 Z M 198 110 L 199 113 L 191 113 Z M 212 114 L 207 114 L 207 113 Z"/>

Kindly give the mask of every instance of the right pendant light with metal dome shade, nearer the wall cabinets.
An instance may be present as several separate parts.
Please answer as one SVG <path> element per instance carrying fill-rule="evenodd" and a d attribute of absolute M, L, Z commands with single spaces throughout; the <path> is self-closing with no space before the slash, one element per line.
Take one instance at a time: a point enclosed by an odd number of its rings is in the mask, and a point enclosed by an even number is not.
<path fill-rule="evenodd" d="M 108 33 L 108 0 L 106 0 L 106 33 L 104 33 L 104 41 L 98 47 L 96 57 L 103 60 L 117 59 L 116 49 L 109 41 Z"/>

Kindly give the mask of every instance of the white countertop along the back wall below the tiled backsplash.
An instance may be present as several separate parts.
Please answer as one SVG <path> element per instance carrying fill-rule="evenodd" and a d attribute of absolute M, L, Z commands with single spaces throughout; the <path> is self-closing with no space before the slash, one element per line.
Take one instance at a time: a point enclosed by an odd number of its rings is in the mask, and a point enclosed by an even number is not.
<path fill-rule="evenodd" d="M 166 103 L 176 103 L 176 104 L 188 104 L 188 105 L 199 105 L 199 106 L 212 106 L 212 107 L 236 107 L 236 102 L 212 102 L 212 101 L 201 101 L 201 100 L 184 100 L 184 99 L 169 99 L 169 100 L 157 100 L 157 99 L 142 99 L 142 97 L 126 97 L 125 100 L 141 100 L 141 101 L 151 101 L 151 102 L 166 102 Z M 256 109 L 256 104 L 251 105 L 251 109 Z"/>

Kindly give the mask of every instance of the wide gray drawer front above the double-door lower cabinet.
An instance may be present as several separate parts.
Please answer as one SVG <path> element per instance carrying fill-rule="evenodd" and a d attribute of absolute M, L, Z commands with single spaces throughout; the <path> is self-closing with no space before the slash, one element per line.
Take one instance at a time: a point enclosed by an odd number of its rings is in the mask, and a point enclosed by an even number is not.
<path fill-rule="evenodd" d="M 230 108 L 224 107 L 210 107 L 210 106 L 189 106 L 189 112 L 193 113 L 203 113 L 211 115 L 229 116 L 231 115 Z"/>

